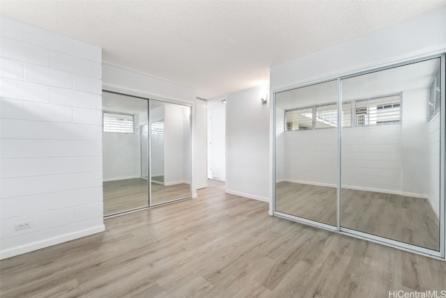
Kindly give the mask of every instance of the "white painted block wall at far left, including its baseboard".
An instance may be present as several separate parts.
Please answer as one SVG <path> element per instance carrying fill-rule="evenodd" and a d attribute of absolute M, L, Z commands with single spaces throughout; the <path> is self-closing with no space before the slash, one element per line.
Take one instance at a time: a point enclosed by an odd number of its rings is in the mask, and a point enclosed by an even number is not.
<path fill-rule="evenodd" d="M 101 49 L 0 18 L 0 257 L 104 230 Z M 15 224 L 31 228 L 15 230 Z"/>

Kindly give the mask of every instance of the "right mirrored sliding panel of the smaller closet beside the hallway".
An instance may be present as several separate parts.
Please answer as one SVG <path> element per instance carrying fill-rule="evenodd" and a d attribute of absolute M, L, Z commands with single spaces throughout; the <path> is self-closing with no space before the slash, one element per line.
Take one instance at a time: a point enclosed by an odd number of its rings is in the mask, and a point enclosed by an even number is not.
<path fill-rule="evenodd" d="M 191 197 L 190 107 L 150 100 L 151 205 Z"/>

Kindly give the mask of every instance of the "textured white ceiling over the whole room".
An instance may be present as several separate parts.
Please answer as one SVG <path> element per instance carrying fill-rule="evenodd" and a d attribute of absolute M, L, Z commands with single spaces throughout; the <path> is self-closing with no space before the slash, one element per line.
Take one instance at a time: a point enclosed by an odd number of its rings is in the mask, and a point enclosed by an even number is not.
<path fill-rule="evenodd" d="M 445 6 L 446 0 L 0 1 L 0 14 L 97 45 L 103 60 L 210 98 L 272 65 Z"/>

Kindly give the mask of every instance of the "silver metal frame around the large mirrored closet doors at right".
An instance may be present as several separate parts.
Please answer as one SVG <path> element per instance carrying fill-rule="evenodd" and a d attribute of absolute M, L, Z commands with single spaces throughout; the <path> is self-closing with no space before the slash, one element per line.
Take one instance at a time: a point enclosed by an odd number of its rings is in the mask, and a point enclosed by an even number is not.
<path fill-rule="evenodd" d="M 341 226 L 341 131 L 342 131 L 342 125 L 339 125 L 341 123 L 341 109 L 342 109 L 342 80 L 348 79 L 351 77 L 357 77 L 358 75 L 366 75 L 372 72 L 378 72 L 380 70 L 387 70 L 390 68 L 395 68 L 403 65 L 409 65 L 412 63 L 427 61 L 432 58 L 440 58 L 440 77 L 441 77 L 441 85 L 440 90 L 442 91 L 440 93 L 440 219 L 439 219 L 439 251 L 434 251 L 432 249 L 426 249 L 421 246 L 416 246 L 413 244 L 408 244 L 405 242 L 397 241 L 397 240 L 391 240 L 389 238 L 380 237 L 376 235 L 371 235 L 369 233 L 362 233 L 357 230 L 352 230 L 349 228 L 344 228 Z M 316 81 L 307 81 L 303 84 L 295 84 L 293 86 L 286 86 L 282 88 L 273 88 L 271 93 L 271 111 L 270 111 L 270 119 L 272 121 L 271 123 L 271 139 L 272 139 L 272 200 L 271 200 L 271 206 L 270 210 L 272 210 L 272 215 L 275 215 L 276 217 L 282 217 L 284 219 L 289 219 L 292 221 L 297 221 L 301 224 L 305 224 L 308 226 L 314 226 L 316 228 L 322 228 L 325 230 L 330 230 L 335 233 L 348 235 L 351 237 L 360 238 L 363 240 L 367 240 L 370 242 L 376 242 L 379 244 L 384 244 L 386 246 L 392 246 L 396 249 L 401 249 L 404 251 L 410 251 L 413 253 L 418 253 L 423 256 L 429 256 L 431 258 L 437 258 L 440 260 L 445 260 L 445 122 L 446 122 L 446 100 L 445 100 L 445 69 L 446 69 L 446 54 L 445 52 L 436 52 L 433 54 L 430 54 L 429 56 L 420 56 L 420 58 L 408 58 L 404 61 L 398 62 L 398 63 L 386 63 L 385 66 L 376 66 L 367 68 L 367 70 L 363 71 L 354 71 L 349 73 L 344 73 L 344 75 L 334 75 L 331 77 L 326 77 L 325 79 L 319 79 Z M 277 136 L 276 136 L 276 94 L 281 93 L 284 91 L 290 91 L 292 89 L 296 88 L 303 88 L 307 86 L 312 86 L 315 84 L 321 84 L 328 81 L 337 80 L 337 225 L 336 226 L 330 226 L 328 224 L 323 224 L 318 221 L 305 219 L 302 217 L 296 217 L 291 214 L 286 214 L 284 212 L 276 211 L 276 150 L 277 150 Z"/>

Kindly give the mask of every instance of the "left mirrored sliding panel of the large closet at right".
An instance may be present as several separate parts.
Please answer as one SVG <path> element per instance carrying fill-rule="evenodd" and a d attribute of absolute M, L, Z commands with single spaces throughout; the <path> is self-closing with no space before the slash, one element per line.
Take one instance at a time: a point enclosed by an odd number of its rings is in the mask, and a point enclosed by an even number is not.
<path fill-rule="evenodd" d="M 337 81 L 276 93 L 275 113 L 275 211 L 336 226 Z"/>

